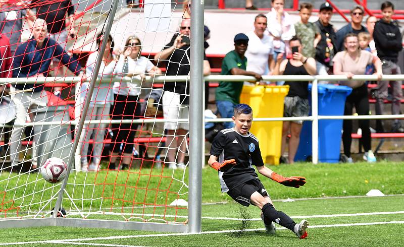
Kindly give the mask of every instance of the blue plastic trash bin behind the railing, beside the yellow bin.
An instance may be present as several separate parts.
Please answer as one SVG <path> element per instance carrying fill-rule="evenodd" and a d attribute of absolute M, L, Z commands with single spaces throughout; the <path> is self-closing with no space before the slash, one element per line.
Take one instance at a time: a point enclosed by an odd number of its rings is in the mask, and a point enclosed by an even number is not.
<path fill-rule="evenodd" d="M 309 101 L 312 85 L 309 85 Z M 319 115 L 343 115 L 346 97 L 352 92 L 348 86 L 328 84 L 318 85 Z M 311 115 L 310 110 L 310 115 Z M 319 120 L 319 161 L 325 163 L 339 162 L 341 147 L 342 119 Z M 307 161 L 312 156 L 312 121 L 305 121 L 300 133 L 299 146 L 294 161 Z"/>

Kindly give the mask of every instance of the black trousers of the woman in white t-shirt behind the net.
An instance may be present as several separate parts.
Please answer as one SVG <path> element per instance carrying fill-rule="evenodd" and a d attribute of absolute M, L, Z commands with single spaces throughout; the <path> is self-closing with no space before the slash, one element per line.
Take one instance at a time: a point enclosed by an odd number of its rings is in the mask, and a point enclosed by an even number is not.
<path fill-rule="evenodd" d="M 112 106 L 111 118 L 114 120 L 138 119 L 140 115 L 140 104 L 137 104 L 138 96 L 114 94 L 114 105 Z M 119 153 L 123 143 L 123 153 L 133 152 L 133 139 L 135 138 L 137 123 L 113 123 L 110 151 Z"/>

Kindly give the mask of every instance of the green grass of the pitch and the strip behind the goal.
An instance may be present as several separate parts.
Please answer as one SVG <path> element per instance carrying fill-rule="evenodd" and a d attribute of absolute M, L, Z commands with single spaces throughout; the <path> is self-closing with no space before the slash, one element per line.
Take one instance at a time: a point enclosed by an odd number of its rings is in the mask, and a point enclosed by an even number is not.
<path fill-rule="evenodd" d="M 279 174 L 290 176 L 306 176 L 307 184 L 299 189 L 284 187 L 270 179 L 262 177 L 266 189 L 274 200 L 275 207 L 290 215 L 296 222 L 300 221 L 299 216 L 308 216 L 307 220 L 311 226 L 323 226 L 349 223 L 370 223 L 404 221 L 404 214 L 377 214 L 377 215 L 348 215 L 338 217 L 327 217 L 326 215 L 354 214 L 371 212 L 394 212 L 402 211 L 404 196 L 386 197 L 363 197 L 371 189 L 378 189 L 385 194 L 404 194 L 404 187 L 401 182 L 404 178 L 404 166 L 401 163 L 379 162 L 374 164 L 310 164 L 296 163 L 293 165 L 270 166 Z M 13 174 L 13 173 L 12 173 Z M 10 174 L 0 175 L 0 191 L 6 188 L 16 188 L 3 194 L 5 199 L 2 207 L 9 206 L 9 196 L 16 199 L 18 203 L 31 204 L 34 211 L 42 203 L 46 196 L 54 195 L 59 186 L 52 187 L 45 183 L 37 174 L 21 175 L 12 179 L 5 179 Z M 186 216 L 186 209 L 175 207 L 151 207 L 139 206 L 145 203 L 158 202 L 164 204 L 177 198 L 187 198 L 188 184 L 187 172 L 181 170 L 165 169 L 151 170 L 141 169 L 140 171 L 129 172 L 92 172 L 72 173 L 69 178 L 67 191 L 75 199 L 75 203 L 83 207 L 83 211 L 106 208 L 105 211 L 124 213 L 151 214 L 173 214 Z M 182 182 L 184 177 L 185 183 Z M 27 183 L 28 181 L 28 183 Z M 74 186 L 73 186 L 74 184 Z M 126 186 L 125 186 L 126 184 Z M 17 185 L 17 187 L 16 187 Z M 114 193 L 111 188 L 115 188 Z M 309 237 L 301 240 L 295 238 L 289 230 L 278 230 L 274 236 L 267 235 L 263 230 L 239 231 L 241 228 L 255 229 L 263 228 L 259 219 L 260 210 L 257 207 L 241 207 L 227 196 L 220 193 L 217 172 L 211 168 L 203 169 L 202 200 L 205 203 L 202 208 L 202 229 L 203 231 L 238 230 L 236 233 L 224 232 L 215 234 L 200 235 L 176 235 L 176 236 L 154 236 L 138 238 L 118 238 L 108 240 L 82 240 L 85 243 L 108 243 L 144 246 L 288 246 L 293 244 L 304 244 L 305 246 L 397 246 L 397 243 L 404 242 L 402 227 L 404 224 L 377 224 L 361 226 L 340 226 L 340 227 L 319 227 L 309 228 Z M 34 193 L 32 193 L 34 192 Z M 129 194 L 132 193 L 129 197 Z M 134 196 L 134 193 L 139 193 Z M 159 194 L 159 192 L 161 192 Z M 164 193 L 163 193 L 164 192 Z M 179 192 L 179 193 L 178 193 Z M 103 200 L 99 199 L 105 196 Z M 128 200 L 125 197 L 128 197 Z M 328 197 L 348 198 L 328 198 Z M 360 197 L 351 197 L 360 196 Z M 106 199 L 107 197 L 114 198 Z M 82 198 L 93 198 L 94 200 L 80 200 Z M 133 199 L 135 198 L 135 203 Z M 138 199 L 137 199 L 138 198 Z M 291 198 L 293 202 L 283 202 L 280 199 Z M 313 198 L 312 200 L 298 200 L 299 198 Z M 131 199 L 131 200 L 129 200 Z M 37 200 L 37 201 L 36 201 Z M 110 200 L 110 201 L 108 201 Z M 67 201 L 67 200 L 65 200 Z M 101 202 L 104 202 L 101 204 Z M 38 203 L 38 204 L 35 204 Z M 207 204 L 208 203 L 208 204 Z M 209 204 L 220 203 L 220 204 Z M 54 204 L 49 204 L 51 207 Z M 64 204 L 66 205 L 66 204 Z M 166 204 L 164 204 L 166 205 Z M 74 209 L 68 205 L 69 209 Z M 125 206 L 125 208 L 122 208 Z M 112 209 L 111 209 L 112 207 Z M 22 208 L 20 213 L 23 213 Z M 80 208 L 81 209 L 81 208 Z M 12 213 L 12 212 L 9 212 Z M 325 215 L 321 217 L 310 217 L 313 215 Z M 4 217 L 4 215 L 2 215 Z M 69 217 L 79 217 L 72 215 Z M 249 221 L 232 219 L 209 219 L 206 217 L 246 218 L 256 219 Z M 296 218 L 297 217 L 297 218 Z M 89 218 L 99 219 L 120 219 L 121 216 L 96 215 Z M 144 218 L 147 218 L 144 216 Z M 182 219 L 181 219 L 182 220 Z M 185 220 L 185 219 L 184 219 Z M 247 222 L 247 223 L 246 223 Z M 0 223 L 2 223 L 0 221 Z M 0 242 L 16 241 L 38 241 L 53 239 L 71 239 L 87 237 L 106 237 L 120 235 L 142 235 L 158 232 L 112 230 L 112 229 L 91 229 L 73 227 L 33 227 L 33 228 L 9 228 L 2 229 Z M 23 246 L 66 246 L 67 243 L 32 243 Z M 399 244 L 398 244 L 399 245 Z M 14 245 L 18 246 L 18 245 Z"/>

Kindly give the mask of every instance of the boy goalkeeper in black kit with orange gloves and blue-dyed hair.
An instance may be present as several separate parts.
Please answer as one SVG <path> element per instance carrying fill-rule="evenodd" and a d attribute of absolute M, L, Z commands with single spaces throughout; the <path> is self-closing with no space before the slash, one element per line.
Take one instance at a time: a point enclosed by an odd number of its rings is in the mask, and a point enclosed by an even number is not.
<path fill-rule="evenodd" d="M 268 233 L 275 233 L 276 222 L 293 231 L 298 238 L 305 238 L 307 220 L 296 224 L 285 213 L 277 211 L 252 165 L 254 164 L 264 176 L 284 186 L 299 188 L 304 186 L 306 178 L 284 177 L 264 165 L 258 139 L 249 133 L 252 123 L 250 106 L 236 105 L 232 118 L 234 128 L 222 130 L 215 137 L 208 161 L 211 167 L 219 171 L 222 193 L 227 192 L 234 201 L 243 206 L 258 206 Z"/>

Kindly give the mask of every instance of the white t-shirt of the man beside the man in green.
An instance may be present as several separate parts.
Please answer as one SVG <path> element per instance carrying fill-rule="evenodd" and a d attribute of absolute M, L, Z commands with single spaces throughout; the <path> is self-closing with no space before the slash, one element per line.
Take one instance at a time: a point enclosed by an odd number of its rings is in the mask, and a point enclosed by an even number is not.
<path fill-rule="evenodd" d="M 247 71 L 264 75 L 268 68 L 268 57 L 274 54 L 272 37 L 264 34 L 260 39 L 254 31 L 246 33 L 248 36 L 248 47 L 245 51 L 247 57 Z"/>

